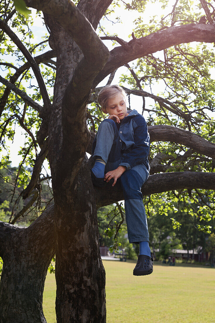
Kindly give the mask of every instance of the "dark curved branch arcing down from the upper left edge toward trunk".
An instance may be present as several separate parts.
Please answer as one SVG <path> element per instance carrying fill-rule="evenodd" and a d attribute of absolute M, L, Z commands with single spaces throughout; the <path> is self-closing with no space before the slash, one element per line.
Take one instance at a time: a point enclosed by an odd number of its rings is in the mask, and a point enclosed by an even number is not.
<path fill-rule="evenodd" d="M 23 45 L 21 40 L 16 36 L 16 34 L 1 19 L 0 19 L 0 27 L 11 38 L 11 40 L 15 43 L 15 45 L 21 50 L 24 57 L 28 60 L 29 64 L 31 65 L 31 68 L 34 71 L 34 75 L 35 75 L 37 83 L 39 85 L 44 105 L 47 107 L 48 110 L 51 110 L 51 101 L 49 99 L 48 92 L 47 92 L 47 89 L 45 87 L 45 83 L 44 83 L 42 74 L 41 74 L 40 69 L 39 69 L 37 63 L 35 62 L 34 58 L 29 53 L 27 48 Z"/>

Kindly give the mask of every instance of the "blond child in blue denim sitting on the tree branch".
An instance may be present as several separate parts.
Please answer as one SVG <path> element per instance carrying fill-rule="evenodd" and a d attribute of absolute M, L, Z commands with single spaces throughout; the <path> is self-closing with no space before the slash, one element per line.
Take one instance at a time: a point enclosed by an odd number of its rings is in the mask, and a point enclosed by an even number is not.
<path fill-rule="evenodd" d="M 120 180 L 130 243 L 140 245 L 140 255 L 133 275 L 149 275 L 153 271 L 153 255 L 149 247 L 146 212 L 141 187 L 149 176 L 150 137 L 145 119 L 126 107 L 126 93 L 118 85 L 105 86 L 98 95 L 102 111 L 108 113 L 93 141 L 95 164 L 91 170 L 93 184 L 104 186 Z"/>

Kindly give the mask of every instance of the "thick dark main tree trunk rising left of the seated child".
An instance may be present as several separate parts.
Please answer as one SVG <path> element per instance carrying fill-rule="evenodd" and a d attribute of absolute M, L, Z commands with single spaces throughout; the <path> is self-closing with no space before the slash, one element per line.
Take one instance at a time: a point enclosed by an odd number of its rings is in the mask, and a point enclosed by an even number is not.
<path fill-rule="evenodd" d="M 84 3 L 81 1 L 79 6 L 83 11 Z M 91 13 L 89 20 L 94 27 L 110 3 L 92 1 L 95 8 L 88 4 L 87 18 Z M 96 14 L 98 8 L 100 12 Z M 53 18 L 45 16 L 45 19 L 57 53 L 48 130 L 54 194 L 56 317 L 58 322 L 106 322 L 105 271 L 99 250 L 96 199 L 86 156 L 83 161 L 90 141 L 86 104 L 91 89 L 89 81 L 92 78 L 93 83 L 95 77 L 89 73 L 93 61 L 89 63 L 89 71 L 86 68 L 85 75 L 78 79 L 76 74 L 81 70 L 79 63 L 83 58 L 80 48 Z M 87 60 L 84 58 L 83 62 L 86 64 Z M 76 78 L 71 83 L 74 74 Z"/>

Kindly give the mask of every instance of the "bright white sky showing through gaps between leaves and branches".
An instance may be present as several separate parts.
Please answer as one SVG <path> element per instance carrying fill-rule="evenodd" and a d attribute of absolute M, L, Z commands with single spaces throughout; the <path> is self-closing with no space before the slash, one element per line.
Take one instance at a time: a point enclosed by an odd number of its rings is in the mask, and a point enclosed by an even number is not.
<path fill-rule="evenodd" d="M 168 7 L 166 7 L 165 11 L 162 10 L 163 14 L 168 14 L 172 10 L 172 5 L 175 3 L 175 1 L 169 1 Z M 161 13 L 161 5 L 157 4 L 154 5 L 152 3 L 149 3 L 147 5 L 147 8 L 144 12 L 144 17 L 148 17 L 148 21 L 150 19 L 151 14 L 159 15 Z M 108 21 L 106 18 L 101 22 L 101 25 L 105 28 L 107 28 L 110 35 L 113 35 L 115 33 L 118 34 L 118 36 L 125 41 L 129 41 L 131 38 L 129 38 L 129 35 L 132 34 L 133 29 L 135 28 L 135 24 L 133 23 L 134 19 L 140 16 L 140 13 L 133 12 L 133 11 L 127 11 L 122 10 L 122 7 L 115 7 L 115 13 L 112 15 L 112 17 L 109 17 L 109 19 L 114 20 L 115 16 L 121 16 L 122 23 L 113 24 L 110 21 Z M 34 43 L 39 43 L 41 41 L 41 36 L 45 35 L 47 33 L 47 30 L 45 26 L 42 25 L 41 18 L 39 16 L 36 17 L 36 10 L 32 9 L 32 16 L 34 19 L 34 25 L 31 27 L 31 29 L 34 32 Z M 146 20 L 145 23 L 148 23 Z M 15 30 L 14 30 L 15 31 Z M 18 35 L 20 36 L 21 35 Z M 113 48 L 112 41 L 104 41 L 105 45 L 111 50 Z M 118 45 L 117 45 L 118 46 Z M 45 51 L 47 51 L 48 48 L 46 47 Z M 162 55 L 162 53 L 156 53 L 155 55 Z M 5 58 L 8 61 L 8 57 Z M 12 61 L 16 65 L 15 57 L 12 58 Z M 112 84 L 118 84 L 119 83 L 119 77 L 122 73 L 126 73 L 127 68 L 121 67 L 117 70 Z M 5 73 L 1 72 L 1 75 L 4 77 Z M 107 83 L 108 77 L 105 78 L 98 86 L 104 86 Z M 159 84 L 157 85 L 159 86 Z M 150 91 L 150 89 L 144 88 L 144 90 Z M 31 93 L 31 92 L 28 92 Z M 153 100 L 150 98 L 146 98 L 146 106 L 153 104 Z M 131 108 L 136 109 L 138 112 L 142 113 L 142 98 L 136 97 L 131 95 Z M 145 116 L 147 119 L 147 116 Z M 33 134 L 35 134 L 35 131 L 32 130 Z M 17 155 L 17 152 L 19 150 L 19 147 L 24 143 L 25 136 L 23 133 L 23 130 L 20 126 L 16 125 L 15 128 L 15 136 L 13 143 L 11 141 L 6 140 L 6 145 L 9 147 L 9 150 L 11 152 L 11 158 L 12 161 L 11 166 L 18 166 L 18 163 L 21 161 L 21 157 Z M 2 155 L 0 155 L 0 158 Z M 48 163 L 44 161 L 44 167 L 46 172 L 50 175 L 50 170 L 48 169 Z"/>

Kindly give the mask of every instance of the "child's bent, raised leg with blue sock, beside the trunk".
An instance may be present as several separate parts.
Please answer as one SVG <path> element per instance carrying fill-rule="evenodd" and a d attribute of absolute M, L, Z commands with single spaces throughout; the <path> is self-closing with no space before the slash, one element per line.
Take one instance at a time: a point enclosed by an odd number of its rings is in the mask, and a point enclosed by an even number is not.
<path fill-rule="evenodd" d="M 119 166 L 121 144 L 116 124 L 111 119 L 100 123 L 96 138 L 93 142 L 93 159 L 95 164 L 92 172 L 96 178 L 104 178 L 104 172 Z M 106 166 L 105 166 L 106 165 Z M 105 182 L 104 182 L 105 183 Z M 96 185 L 96 183 L 94 183 Z"/>

